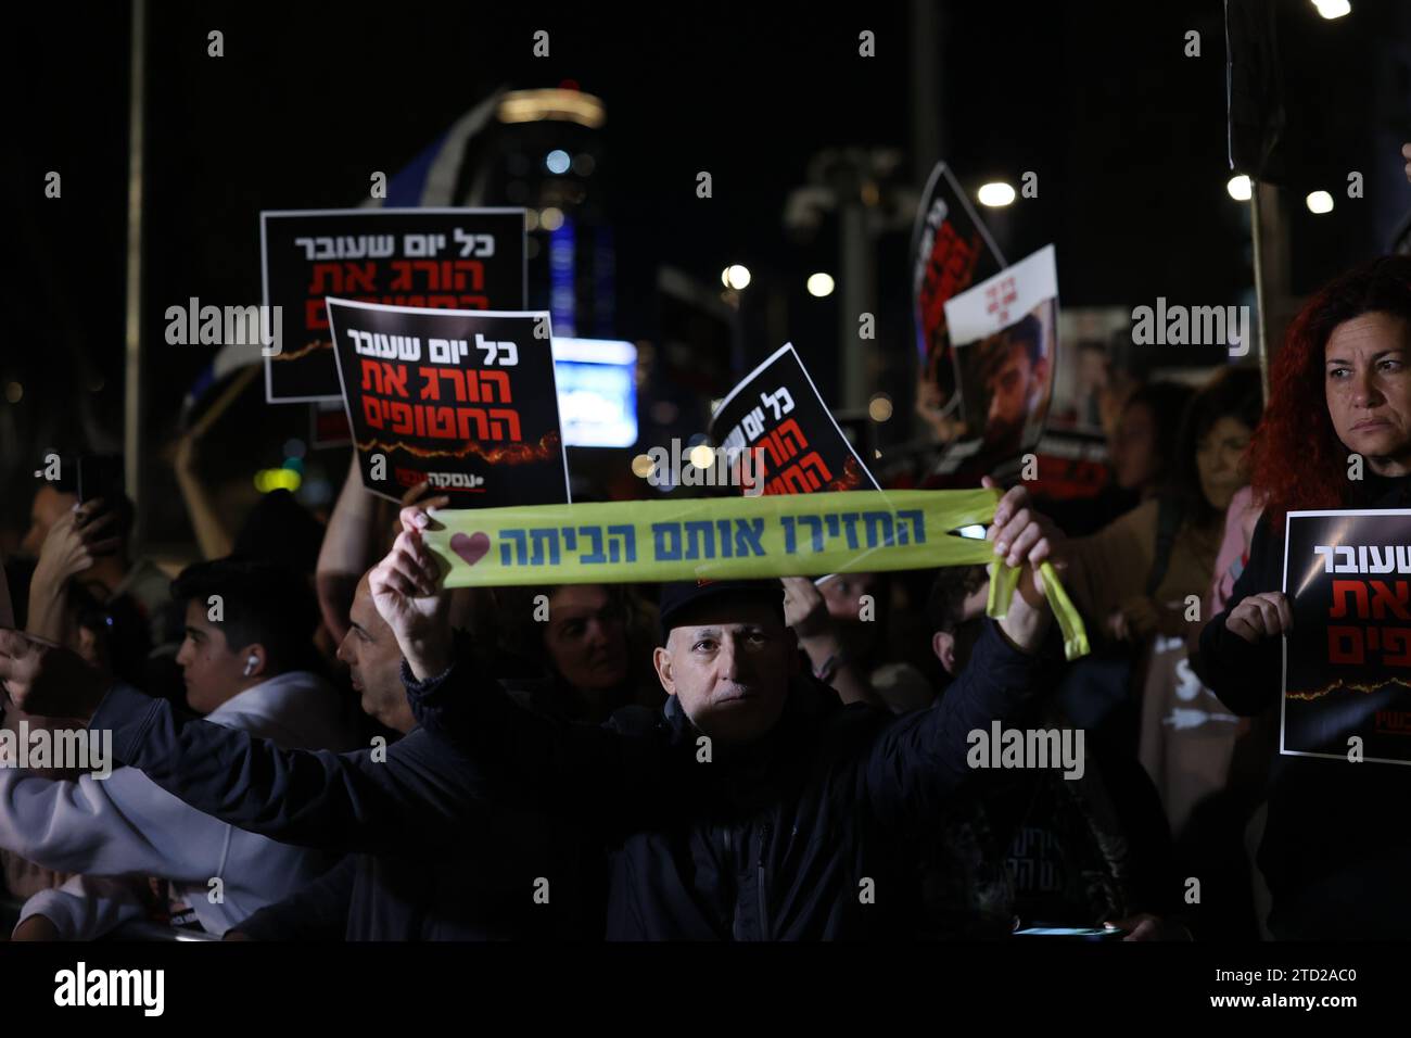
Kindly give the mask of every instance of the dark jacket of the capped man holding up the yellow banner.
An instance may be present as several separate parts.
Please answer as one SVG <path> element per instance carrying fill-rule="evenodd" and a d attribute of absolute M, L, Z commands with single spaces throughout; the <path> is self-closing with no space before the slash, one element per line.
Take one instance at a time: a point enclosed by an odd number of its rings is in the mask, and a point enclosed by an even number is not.
<path fill-rule="evenodd" d="M 800 684 L 766 737 L 708 754 L 676 698 L 556 724 L 460 662 L 408 693 L 477 797 L 602 835 L 610 939 L 869 938 L 913 932 L 900 845 L 935 823 L 971 774 L 968 734 L 1022 706 L 1037 664 L 986 621 L 937 709 L 828 706 Z"/>

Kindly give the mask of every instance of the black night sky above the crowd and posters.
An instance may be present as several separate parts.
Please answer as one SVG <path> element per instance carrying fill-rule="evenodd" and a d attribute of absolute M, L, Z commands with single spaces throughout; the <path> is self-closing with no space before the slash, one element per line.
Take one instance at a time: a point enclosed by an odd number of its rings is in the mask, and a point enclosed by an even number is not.
<path fill-rule="evenodd" d="M 914 369 L 906 191 L 920 188 L 937 158 L 968 191 L 1038 174 L 1037 198 L 981 215 L 1010 261 L 1057 244 L 1064 306 L 1158 295 L 1223 304 L 1249 291 L 1247 206 L 1225 189 L 1219 3 L 937 8 L 934 38 L 920 49 L 938 69 L 940 120 L 917 133 L 906 3 L 151 3 L 148 532 L 188 539 L 162 451 L 213 353 L 168 346 L 165 308 L 192 295 L 257 301 L 261 209 L 356 205 L 371 171 L 395 174 L 499 85 L 573 80 L 605 103 L 594 191 L 612 229 L 615 338 L 658 335 L 659 266 L 718 291 L 720 271 L 744 263 L 753 282 L 741 299 L 732 374 L 776 349 L 783 329 L 830 402 L 840 390 L 840 295 L 814 299 L 803 284 L 814 270 L 838 275 L 837 227 L 825 219 L 810 237 L 787 232 L 785 201 L 824 148 L 897 150 L 882 209 L 899 212 L 868 257 L 879 325 L 869 388 L 897 401 L 892 439 L 910 435 Z M 17 401 L 0 400 L 11 528 L 23 524 L 30 473 L 47 446 L 120 443 L 130 11 L 127 3 L 49 3 L 7 14 L 13 266 L 0 381 L 23 387 Z M 549 58 L 532 55 L 540 28 L 550 34 Z M 210 30 L 224 34 L 223 58 L 207 56 Z M 875 58 L 858 56 L 861 30 L 876 34 Z M 1182 54 L 1188 30 L 1201 32 L 1199 58 Z M 1307 294 L 1383 251 L 1411 203 L 1397 155 L 1411 140 L 1411 4 L 1355 0 L 1352 16 L 1324 21 L 1290 0 L 1278 31 L 1288 109 L 1281 209 L 1290 282 Z M 49 169 L 62 174 L 62 199 L 44 198 Z M 701 169 L 713 175 L 711 199 L 696 196 Z M 1350 169 L 1366 175 L 1362 201 L 1346 198 Z M 1314 188 L 1333 193 L 1333 213 L 1307 212 L 1302 198 Z M 250 394 L 203 463 L 216 479 L 248 482 L 254 469 L 278 466 L 284 441 L 306 429 L 306 408 L 268 408 Z M 317 456 L 310 463 L 317 469 Z M 330 455 L 333 489 L 344 466 L 341 453 Z"/>

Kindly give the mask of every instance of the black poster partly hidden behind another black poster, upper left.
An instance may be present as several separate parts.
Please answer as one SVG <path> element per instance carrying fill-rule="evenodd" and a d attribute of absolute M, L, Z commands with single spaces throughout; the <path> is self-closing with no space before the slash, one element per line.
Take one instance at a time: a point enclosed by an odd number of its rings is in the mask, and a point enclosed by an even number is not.
<path fill-rule="evenodd" d="M 264 302 L 279 306 L 265 401 L 339 401 L 323 298 L 522 311 L 523 209 L 313 209 L 260 213 Z"/>

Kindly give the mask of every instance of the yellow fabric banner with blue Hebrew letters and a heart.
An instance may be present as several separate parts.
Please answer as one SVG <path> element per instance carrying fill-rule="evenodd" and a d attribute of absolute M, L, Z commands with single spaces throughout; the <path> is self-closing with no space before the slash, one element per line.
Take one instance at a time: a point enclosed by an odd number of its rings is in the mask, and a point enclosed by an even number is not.
<path fill-rule="evenodd" d="M 443 510 L 425 539 L 447 587 L 930 569 L 993 562 L 993 545 L 955 531 L 989 523 L 998 501 L 996 490 L 858 490 Z M 1017 575 L 998 566 L 991 616 L 1003 617 Z M 1046 563 L 1041 576 L 1068 657 L 1085 654 L 1057 575 Z"/>

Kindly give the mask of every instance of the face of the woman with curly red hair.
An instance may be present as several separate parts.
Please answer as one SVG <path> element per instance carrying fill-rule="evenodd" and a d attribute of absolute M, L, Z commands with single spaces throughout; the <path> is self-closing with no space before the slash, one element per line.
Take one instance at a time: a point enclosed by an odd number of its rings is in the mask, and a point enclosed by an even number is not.
<path fill-rule="evenodd" d="M 1411 473 L 1411 323 L 1383 312 L 1345 321 L 1324 360 L 1338 439 L 1380 476 Z"/>

